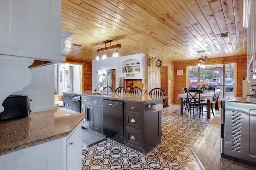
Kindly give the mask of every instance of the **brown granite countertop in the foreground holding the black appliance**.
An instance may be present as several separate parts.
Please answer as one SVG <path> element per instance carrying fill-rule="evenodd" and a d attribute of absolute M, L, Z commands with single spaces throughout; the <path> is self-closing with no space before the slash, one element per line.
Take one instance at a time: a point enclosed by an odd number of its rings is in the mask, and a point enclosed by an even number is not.
<path fill-rule="evenodd" d="M 0 121 L 0 156 L 68 136 L 84 114 L 56 109 Z"/>

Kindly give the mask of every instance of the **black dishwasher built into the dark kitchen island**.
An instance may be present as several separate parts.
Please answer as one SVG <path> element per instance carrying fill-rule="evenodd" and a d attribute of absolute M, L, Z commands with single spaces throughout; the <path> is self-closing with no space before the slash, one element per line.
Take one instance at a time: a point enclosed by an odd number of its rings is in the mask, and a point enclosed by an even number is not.
<path fill-rule="evenodd" d="M 123 102 L 103 100 L 103 134 L 124 143 Z"/>

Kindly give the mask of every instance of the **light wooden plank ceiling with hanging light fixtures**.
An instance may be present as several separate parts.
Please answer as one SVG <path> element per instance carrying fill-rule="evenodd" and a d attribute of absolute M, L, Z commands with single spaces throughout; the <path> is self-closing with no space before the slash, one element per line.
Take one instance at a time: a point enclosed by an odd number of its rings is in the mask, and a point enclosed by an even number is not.
<path fill-rule="evenodd" d="M 94 60 L 96 50 L 104 48 L 103 41 L 110 39 L 111 45 L 122 45 L 119 56 L 144 53 L 169 61 L 195 60 L 201 55 L 243 56 L 246 31 L 242 26 L 242 2 L 62 0 L 62 29 L 73 33 L 62 55 Z M 230 36 L 220 37 L 227 32 Z M 108 50 L 107 56 L 112 53 Z"/>

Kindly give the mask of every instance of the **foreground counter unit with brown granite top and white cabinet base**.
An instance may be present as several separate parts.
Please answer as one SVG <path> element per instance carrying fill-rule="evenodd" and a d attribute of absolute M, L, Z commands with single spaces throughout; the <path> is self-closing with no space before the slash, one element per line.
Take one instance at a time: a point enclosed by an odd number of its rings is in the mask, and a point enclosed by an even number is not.
<path fill-rule="evenodd" d="M 0 169 L 80 169 L 83 118 L 60 108 L 1 121 Z"/>

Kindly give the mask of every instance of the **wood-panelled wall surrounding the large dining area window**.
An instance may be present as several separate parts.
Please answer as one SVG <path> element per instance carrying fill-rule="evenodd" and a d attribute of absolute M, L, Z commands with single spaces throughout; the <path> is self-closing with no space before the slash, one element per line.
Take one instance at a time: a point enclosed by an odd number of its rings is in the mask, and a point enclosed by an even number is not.
<path fill-rule="evenodd" d="M 242 96 L 242 80 L 246 77 L 246 56 L 243 57 L 228 57 L 228 58 L 218 58 L 218 59 L 207 59 L 206 65 L 211 64 L 228 64 L 235 63 L 237 69 L 235 69 L 234 79 L 237 84 L 235 85 L 234 95 Z M 180 99 L 177 99 L 178 94 L 181 93 L 181 89 L 188 86 L 188 78 L 186 78 L 186 67 L 187 66 L 196 66 L 198 60 L 195 61 L 181 61 L 174 62 L 174 102 L 180 103 Z M 183 70 L 183 75 L 177 75 L 177 70 Z"/>

